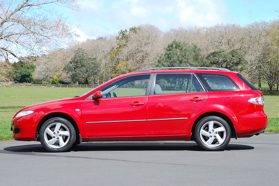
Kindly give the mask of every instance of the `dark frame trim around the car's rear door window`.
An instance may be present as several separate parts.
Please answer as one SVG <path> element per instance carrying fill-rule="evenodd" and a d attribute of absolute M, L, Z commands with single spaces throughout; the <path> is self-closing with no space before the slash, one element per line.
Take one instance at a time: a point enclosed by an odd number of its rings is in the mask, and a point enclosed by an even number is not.
<path fill-rule="evenodd" d="M 206 92 L 205 91 L 205 88 L 203 87 L 201 81 L 196 77 L 196 75 L 194 73 L 183 73 L 183 72 L 166 72 L 166 73 L 154 73 L 153 75 L 153 79 L 152 79 L 152 84 L 151 84 L 151 90 L 150 90 L 150 94 L 149 95 L 167 95 L 167 94 L 154 94 L 154 89 L 155 89 L 155 83 L 156 83 L 156 78 L 157 78 L 157 74 L 190 74 L 191 75 L 191 84 L 190 84 L 190 92 L 185 92 L 185 93 L 169 93 L 169 94 L 187 94 L 187 93 L 195 93 L 195 92 L 191 92 L 192 90 L 192 80 L 193 80 L 193 76 L 197 79 L 197 81 L 200 83 L 202 89 L 203 89 L 203 92 Z"/>

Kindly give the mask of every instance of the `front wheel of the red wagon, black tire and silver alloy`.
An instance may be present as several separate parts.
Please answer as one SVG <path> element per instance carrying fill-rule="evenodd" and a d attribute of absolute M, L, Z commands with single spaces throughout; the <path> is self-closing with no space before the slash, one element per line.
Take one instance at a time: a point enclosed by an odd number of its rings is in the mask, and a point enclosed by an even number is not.
<path fill-rule="evenodd" d="M 68 151 L 76 141 L 74 126 L 61 117 L 54 117 L 42 125 L 40 129 L 40 142 L 51 152 Z"/>

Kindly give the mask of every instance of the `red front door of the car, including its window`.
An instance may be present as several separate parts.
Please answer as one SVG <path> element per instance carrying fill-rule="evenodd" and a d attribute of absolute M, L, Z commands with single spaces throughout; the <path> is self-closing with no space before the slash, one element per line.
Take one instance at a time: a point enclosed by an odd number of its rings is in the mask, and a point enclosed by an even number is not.
<path fill-rule="evenodd" d="M 82 103 L 85 135 L 146 135 L 146 108 L 150 74 L 129 76 L 101 89 L 103 97 Z"/>

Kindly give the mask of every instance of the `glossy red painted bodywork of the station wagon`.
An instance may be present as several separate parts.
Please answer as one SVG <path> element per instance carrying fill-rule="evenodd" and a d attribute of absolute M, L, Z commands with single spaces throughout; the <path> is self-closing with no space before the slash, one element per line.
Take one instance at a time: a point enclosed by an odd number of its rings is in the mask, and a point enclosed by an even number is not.
<path fill-rule="evenodd" d="M 185 70 L 160 70 L 124 74 L 92 90 L 85 96 L 60 99 L 23 108 L 19 112 L 33 110 L 34 113 L 12 119 L 13 138 L 26 141 L 35 140 L 35 132 L 39 122 L 53 113 L 63 113 L 71 117 L 79 129 L 83 141 L 190 140 L 192 127 L 196 119 L 208 112 L 226 115 L 235 126 L 239 137 L 262 132 L 267 127 L 267 116 L 264 114 L 263 106 L 248 102 L 251 98 L 262 96 L 262 93 L 252 91 L 235 75 L 235 72 L 187 70 L 187 73 L 227 75 L 237 84 L 240 91 L 85 100 L 94 92 L 119 78 L 135 74 L 160 72 L 185 73 Z M 204 98 L 204 100 L 190 101 L 197 98 Z M 76 111 L 76 109 L 79 109 L 79 111 Z M 167 118 L 187 119 L 146 121 L 148 119 Z M 120 120 L 144 121 L 86 124 L 86 122 Z M 19 128 L 20 132 L 15 134 L 14 128 Z"/>

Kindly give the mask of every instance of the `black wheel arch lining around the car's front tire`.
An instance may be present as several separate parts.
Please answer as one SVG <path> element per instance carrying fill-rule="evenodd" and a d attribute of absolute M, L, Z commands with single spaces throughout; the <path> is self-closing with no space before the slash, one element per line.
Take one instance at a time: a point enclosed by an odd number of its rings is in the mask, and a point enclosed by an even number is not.
<path fill-rule="evenodd" d="M 53 113 L 50 113 L 48 115 L 45 115 L 39 122 L 39 124 L 37 125 L 37 128 L 36 128 L 36 135 L 35 135 L 35 140 L 36 141 L 40 141 L 40 138 L 39 138 L 39 135 L 40 135 L 40 129 L 42 127 L 42 125 L 44 124 L 44 122 L 46 122 L 48 119 L 51 119 L 53 117 L 61 117 L 61 118 L 64 118 L 64 119 L 67 119 L 73 126 L 74 126 L 74 129 L 76 131 L 76 139 L 79 140 L 79 134 L 80 134 L 80 131 L 79 131 L 79 128 L 78 128 L 78 125 L 76 123 L 76 121 L 69 115 L 65 114 L 65 113 L 62 113 L 62 112 L 53 112 Z"/>

